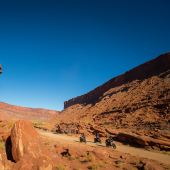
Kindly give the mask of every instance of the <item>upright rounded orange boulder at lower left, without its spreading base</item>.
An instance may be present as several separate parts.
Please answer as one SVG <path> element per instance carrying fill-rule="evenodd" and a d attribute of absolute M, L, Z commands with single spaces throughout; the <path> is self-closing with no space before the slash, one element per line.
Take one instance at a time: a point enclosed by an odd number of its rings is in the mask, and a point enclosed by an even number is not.
<path fill-rule="evenodd" d="M 25 154 L 36 158 L 41 153 L 40 137 L 28 121 L 17 121 L 11 131 L 12 155 L 15 162 Z"/>

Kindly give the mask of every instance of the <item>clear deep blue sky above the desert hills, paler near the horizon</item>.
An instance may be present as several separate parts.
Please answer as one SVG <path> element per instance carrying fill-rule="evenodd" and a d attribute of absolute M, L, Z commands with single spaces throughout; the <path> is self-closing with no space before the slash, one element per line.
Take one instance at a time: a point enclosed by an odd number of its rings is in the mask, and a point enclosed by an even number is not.
<path fill-rule="evenodd" d="M 0 0 L 0 101 L 61 110 L 168 51 L 169 0 Z"/>

